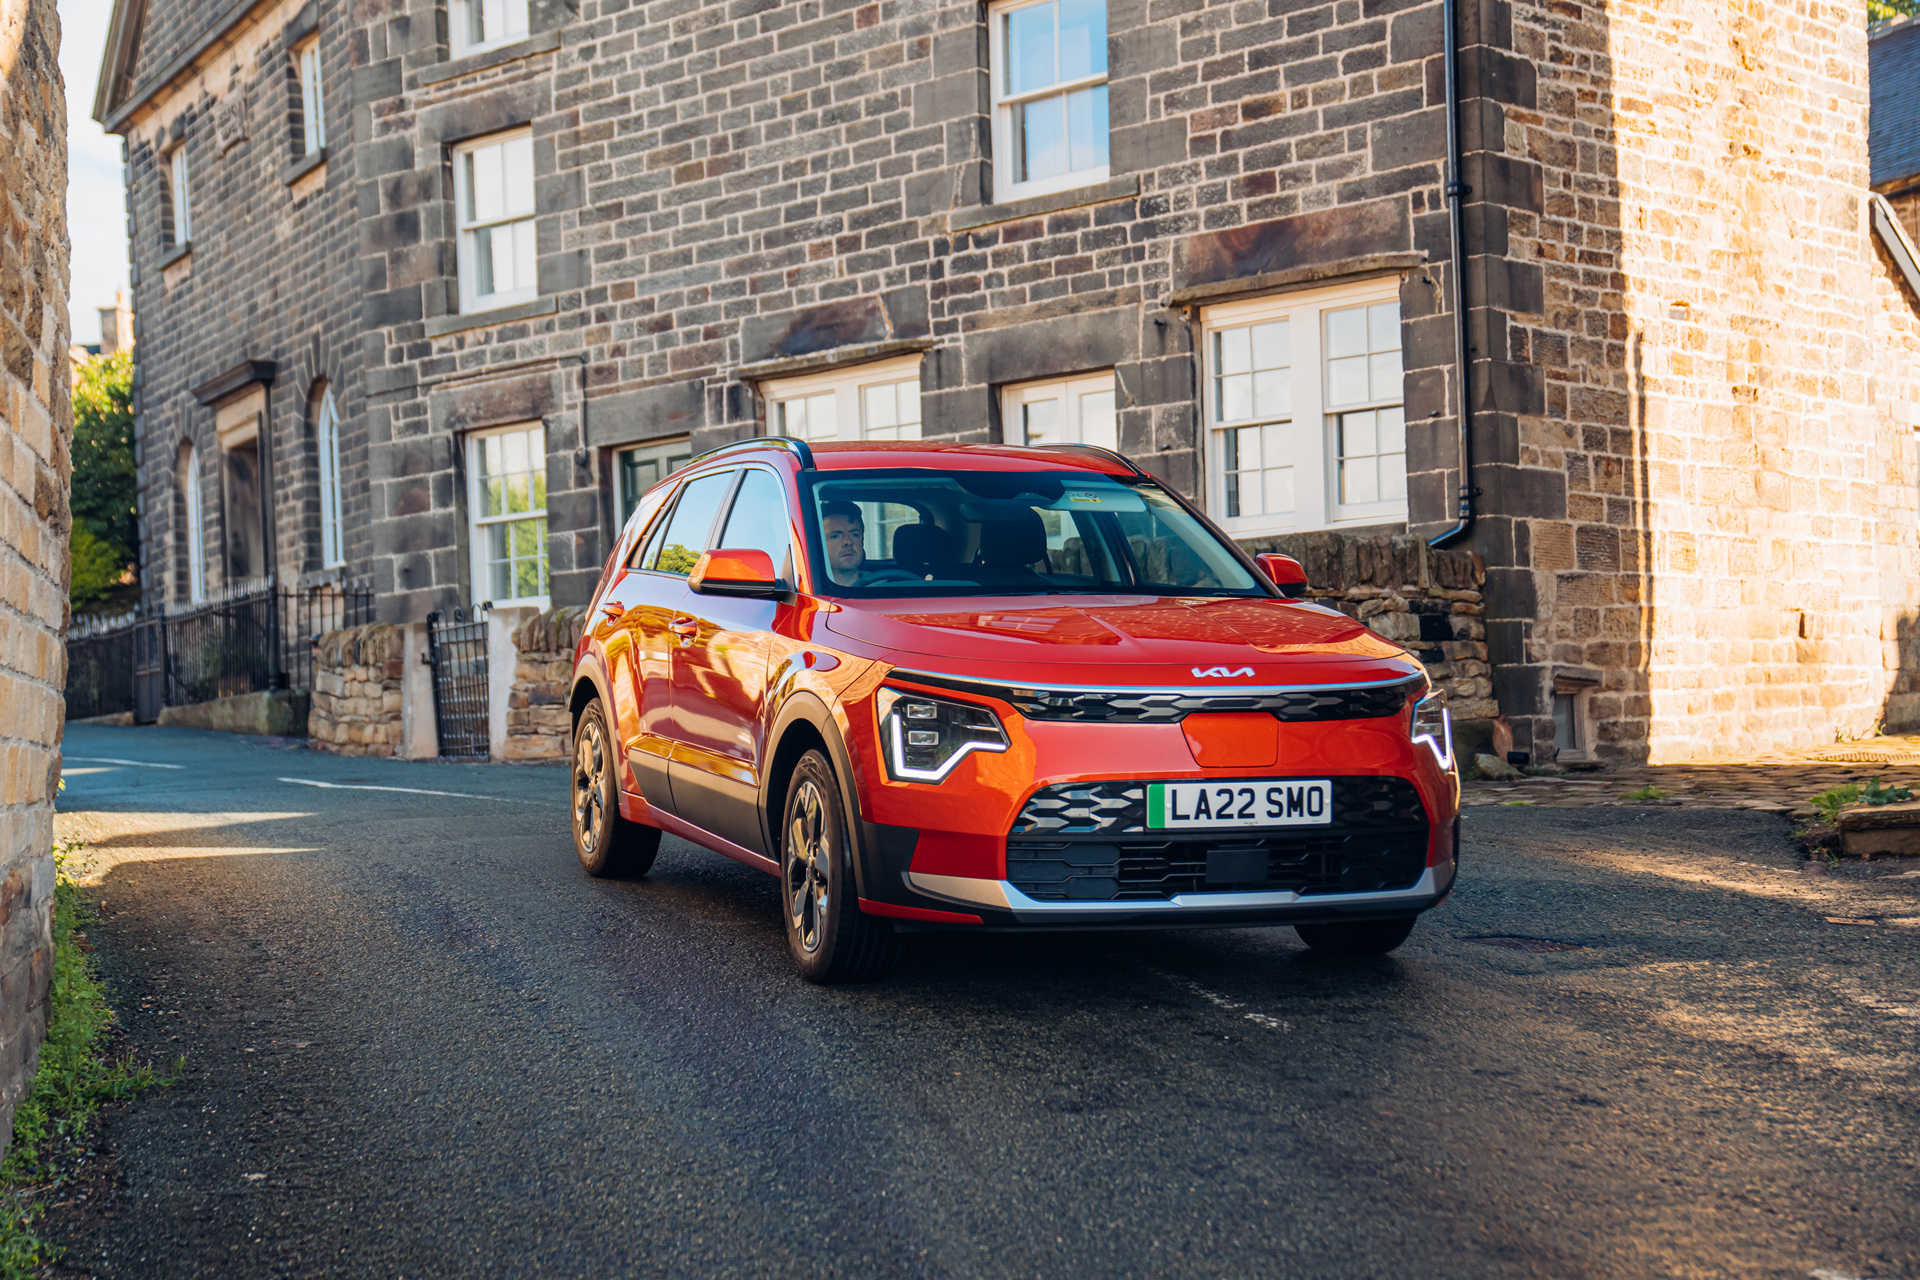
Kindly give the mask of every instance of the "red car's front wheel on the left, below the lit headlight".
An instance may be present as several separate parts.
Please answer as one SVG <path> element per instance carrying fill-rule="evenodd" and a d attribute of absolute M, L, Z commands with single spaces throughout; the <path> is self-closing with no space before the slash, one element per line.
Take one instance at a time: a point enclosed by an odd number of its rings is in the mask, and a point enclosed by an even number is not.
<path fill-rule="evenodd" d="M 893 921 L 860 910 L 847 810 L 833 766 L 818 750 L 801 756 L 787 783 L 780 908 L 793 963 L 808 983 L 872 983 L 900 960 Z"/>

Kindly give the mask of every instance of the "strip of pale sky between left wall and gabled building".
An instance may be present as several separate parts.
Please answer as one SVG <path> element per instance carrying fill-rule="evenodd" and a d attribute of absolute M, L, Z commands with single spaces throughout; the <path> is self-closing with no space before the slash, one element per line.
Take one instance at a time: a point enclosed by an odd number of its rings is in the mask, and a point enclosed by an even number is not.
<path fill-rule="evenodd" d="M 73 342 L 100 342 L 98 307 L 127 288 L 127 194 L 119 138 L 94 123 L 94 84 L 113 0 L 60 0 L 60 71 L 67 81 L 67 232 L 73 238 Z"/>

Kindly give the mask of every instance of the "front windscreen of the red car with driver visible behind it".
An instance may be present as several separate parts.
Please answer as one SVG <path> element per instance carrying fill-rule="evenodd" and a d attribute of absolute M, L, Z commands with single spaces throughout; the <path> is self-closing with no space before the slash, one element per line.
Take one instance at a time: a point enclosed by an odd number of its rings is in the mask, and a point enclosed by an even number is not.
<path fill-rule="evenodd" d="M 822 595 L 1271 595 L 1150 480 L 803 472 L 803 507 Z"/>

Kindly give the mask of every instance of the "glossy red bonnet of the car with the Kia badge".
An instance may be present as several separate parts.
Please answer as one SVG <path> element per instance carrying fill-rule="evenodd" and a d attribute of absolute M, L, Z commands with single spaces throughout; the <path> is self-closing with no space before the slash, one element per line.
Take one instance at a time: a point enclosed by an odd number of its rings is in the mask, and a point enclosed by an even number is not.
<path fill-rule="evenodd" d="M 1275 599 L 858 601 L 829 614 L 826 626 L 895 651 L 900 666 L 1000 681 L 1192 685 L 1198 679 L 1231 687 L 1352 683 L 1421 670 L 1404 649 L 1346 614 Z"/>

